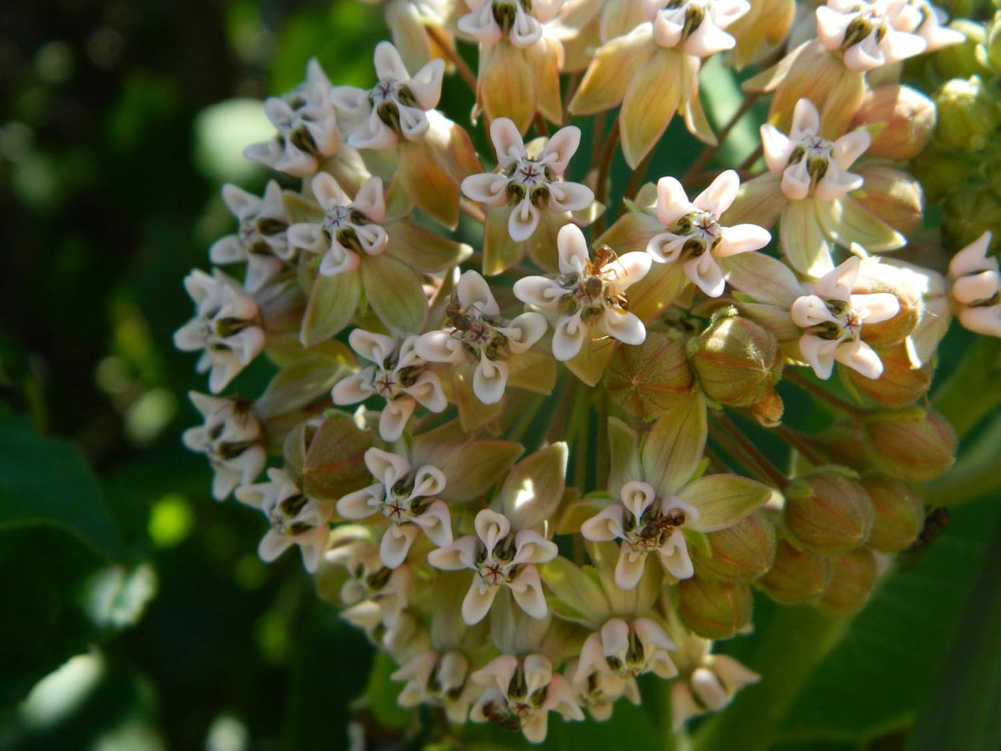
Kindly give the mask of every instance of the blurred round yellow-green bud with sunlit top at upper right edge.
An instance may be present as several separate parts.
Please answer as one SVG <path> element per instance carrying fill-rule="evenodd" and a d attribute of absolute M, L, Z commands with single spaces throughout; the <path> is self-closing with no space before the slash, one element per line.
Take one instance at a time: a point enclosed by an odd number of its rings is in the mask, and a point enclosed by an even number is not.
<path fill-rule="evenodd" d="M 1001 125 L 1001 108 L 980 76 L 946 82 L 935 103 L 939 116 L 935 135 L 948 146 L 980 151 Z"/>

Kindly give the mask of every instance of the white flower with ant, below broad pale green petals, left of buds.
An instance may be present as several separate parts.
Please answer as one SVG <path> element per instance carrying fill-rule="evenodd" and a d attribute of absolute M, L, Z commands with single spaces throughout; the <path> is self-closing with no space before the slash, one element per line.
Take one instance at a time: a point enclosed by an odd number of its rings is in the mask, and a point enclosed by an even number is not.
<path fill-rule="evenodd" d="M 622 504 L 608 507 L 581 525 L 581 534 L 588 540 L 623 541 L 616 584 L 624 590 L 635 588 L 651 553 L 657 553 L 675 578 L 694 576 L 682 529 L 699 529 L 699 510 L 677 496 L 658 500 L 653 486 L 636 480 L 623 485 L 619 495 Z"/>

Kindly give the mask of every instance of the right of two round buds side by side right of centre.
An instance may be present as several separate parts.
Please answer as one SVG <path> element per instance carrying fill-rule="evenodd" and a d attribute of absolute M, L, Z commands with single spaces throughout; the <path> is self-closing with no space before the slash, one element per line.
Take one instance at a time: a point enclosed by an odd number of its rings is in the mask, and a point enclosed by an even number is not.
<path fill-rule="evenodd" d="M 733 307 L 713 315 L 690 352 L 702 390 L 722 405 L 750 407 L 769 397 L 782 378 L 775 335 Z"/>

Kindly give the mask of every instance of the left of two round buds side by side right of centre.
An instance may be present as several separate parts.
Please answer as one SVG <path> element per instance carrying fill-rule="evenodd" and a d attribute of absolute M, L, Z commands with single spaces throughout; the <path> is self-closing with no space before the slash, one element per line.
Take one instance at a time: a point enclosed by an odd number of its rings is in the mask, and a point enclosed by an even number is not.
<path fill-rule="evenodd" d="M 654 420 L 692 391 L 692 368 L 681 335 L 647 331 L 639 346 L 616 348 L 605 376 L 612 398 L 627 412 Z"/>

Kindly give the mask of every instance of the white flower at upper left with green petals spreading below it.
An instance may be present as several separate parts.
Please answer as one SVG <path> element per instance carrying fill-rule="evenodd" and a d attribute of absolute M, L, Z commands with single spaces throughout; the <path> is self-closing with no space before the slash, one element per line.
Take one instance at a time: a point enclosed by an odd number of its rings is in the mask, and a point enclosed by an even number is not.
<path fill-rule="evenodd" d="M 288 227 L 288 244 L 322 253 L 319 272 L 324 276 L 347 273 L 358 267 L 360 252 L 378 255 L 389 241 L 379 222 L 385 218 L 382 180 L 369 177 L 352 200 L 327 172 L 312 178 L 312 191 L 323 209 L 316 224 L 299 222 Z"/>

